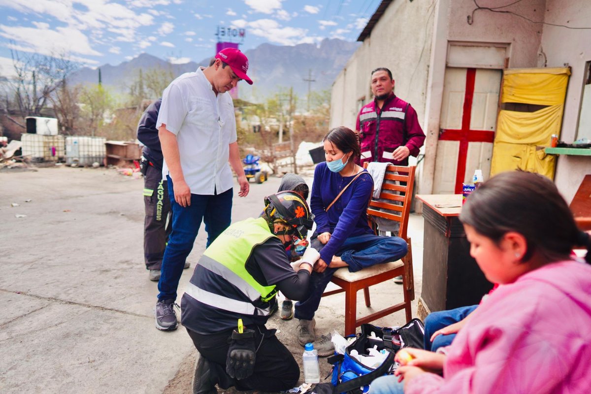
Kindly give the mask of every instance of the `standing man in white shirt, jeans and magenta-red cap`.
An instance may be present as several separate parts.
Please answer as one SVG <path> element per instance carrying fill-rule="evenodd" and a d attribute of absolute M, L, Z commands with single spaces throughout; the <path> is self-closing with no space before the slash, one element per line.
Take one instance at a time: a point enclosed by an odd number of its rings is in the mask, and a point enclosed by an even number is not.
<path fill-rule="evenodd" d="M 201 222 L 205 223 L 207 246 L 230 225 L 230 165 L 238 174 L 238 196 L 248 194 L 236 142 L 234 105 L 227 93 L 240 80 L 252 84 L 246 71 L 246 56 L 225 48 L 209 67 L 181 75 L 164 90 L 156 127 L 164 155 L 163 177 L 168 180 L 171 197 L 173 231 L 158 282 L 158 330 L 177 328 L 173 305 L 178 281 Z"/>

